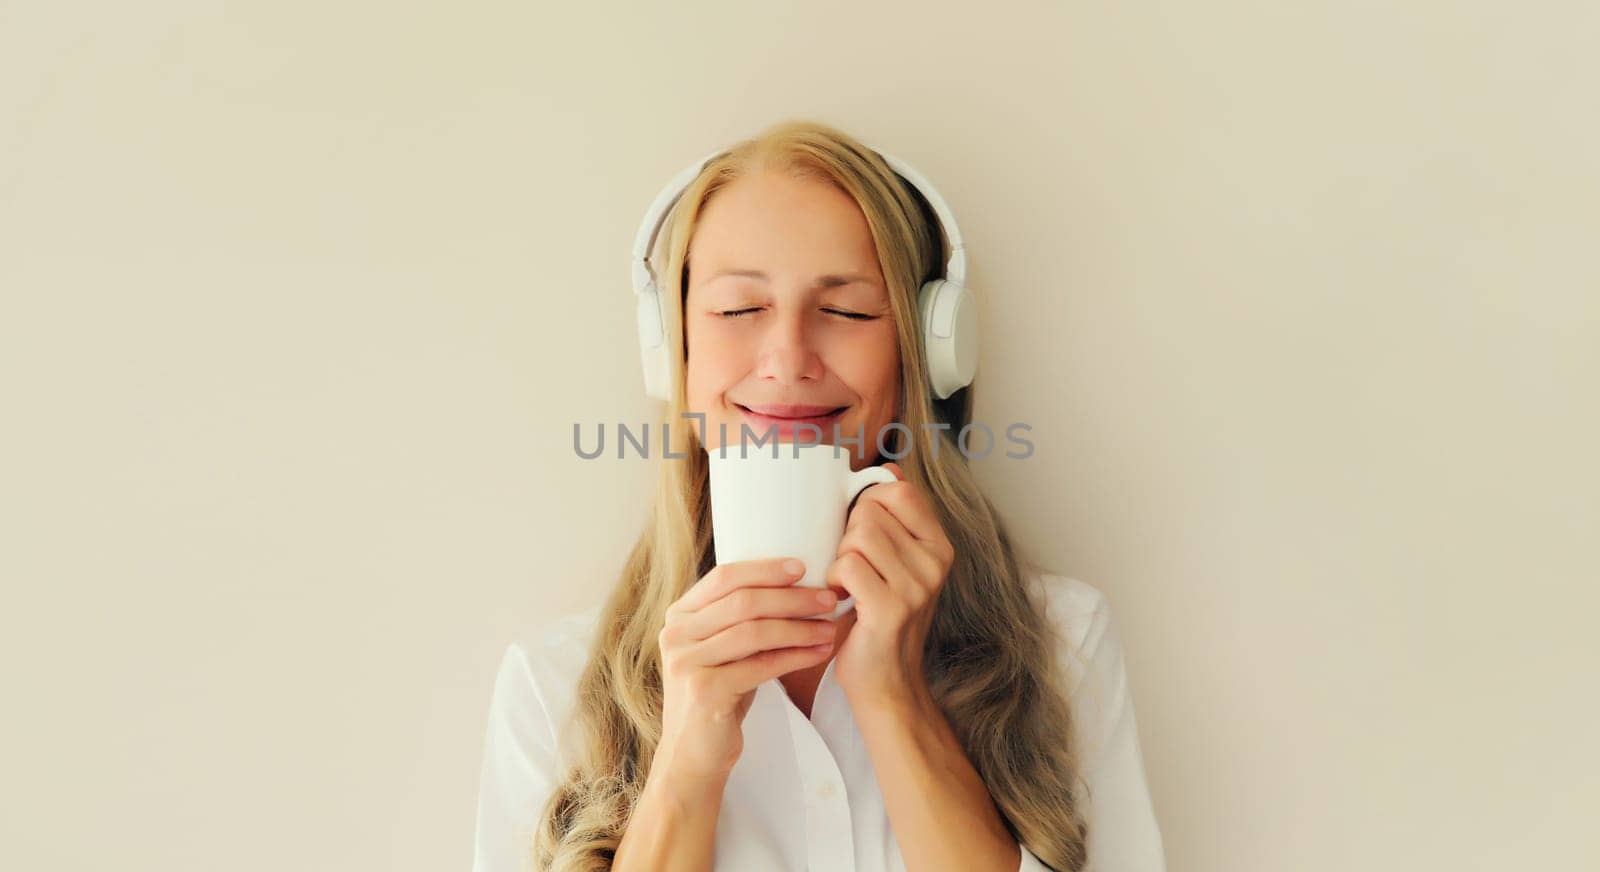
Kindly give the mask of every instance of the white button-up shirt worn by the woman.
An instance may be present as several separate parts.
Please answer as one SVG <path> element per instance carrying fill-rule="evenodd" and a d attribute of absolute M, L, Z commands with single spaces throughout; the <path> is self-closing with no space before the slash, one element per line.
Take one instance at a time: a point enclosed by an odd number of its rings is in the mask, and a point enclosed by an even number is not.
<path fill-rule="evenodd" d="M 1070 688 L 1082 774 L 1090 784 L 1091 872 L 1163 872 L 1162 834 L 1144 781 L 1123 648 L 1094 587 L 1043 576 L 1046 616 L 1086 667 L 1058 651 Z M 533 869 L 534 816 L 571 760 L 566 722 L 598 606 L 512 642 L 494 678 L 480 773 L 474 872 Z M 1062 645 L 1062 648 L 1064 648 Z M 1046 872 L 1027 846 L 1019 872 Z M 717 816 L 720 872 L 904 872 L 872 760 L 830 659 L 811 717 L 778 678 L 744 718 L 744 750 Z"/>

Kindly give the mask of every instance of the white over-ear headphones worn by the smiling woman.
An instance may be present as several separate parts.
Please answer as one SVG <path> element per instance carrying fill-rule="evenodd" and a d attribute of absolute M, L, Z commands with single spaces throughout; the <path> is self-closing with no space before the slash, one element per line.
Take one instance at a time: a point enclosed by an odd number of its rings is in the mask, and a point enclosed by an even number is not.
<path fill-rule="evenodd" d="M 630 272 L 638 314 L 638 354 L 645 366 L 645 392 L 658 400 L 672 398 L 672 360 L 667 347 L 667 309 L 650 267 L 650 250 L 667 213 L 694 181 L 706 163 L 723 154 L 718 149 L 672 178 L 650 203 L 634 237 Z M 926 350 L 928 386 L 941 400 L 973 382 L 978 371 L 978 304 L 966 290 L 966 248 L 962 230 L 944 197 L 906 162 L 874 149 L 902 179 L 910 182 L 933 206 L 950 243 L 950 261 L 944 277 L 926 282 L 917 293 L 922 344 Z"/>

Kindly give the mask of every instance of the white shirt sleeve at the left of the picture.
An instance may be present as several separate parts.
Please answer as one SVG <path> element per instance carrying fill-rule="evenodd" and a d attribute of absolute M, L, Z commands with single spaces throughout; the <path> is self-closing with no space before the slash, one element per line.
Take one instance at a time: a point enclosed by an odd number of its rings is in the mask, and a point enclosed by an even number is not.
<path fill-rule="evenodd" d="M 533 872 L 534 816 L 555 789 L 555 728 L 526 650 L 510 643 L 490 698 L 472 872 Z"/>

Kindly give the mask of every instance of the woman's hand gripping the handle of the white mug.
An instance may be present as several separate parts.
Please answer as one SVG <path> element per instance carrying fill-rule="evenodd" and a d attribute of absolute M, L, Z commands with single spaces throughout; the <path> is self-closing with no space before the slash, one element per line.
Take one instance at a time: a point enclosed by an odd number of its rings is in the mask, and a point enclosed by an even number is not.
<path fill-rule="evenodd" d="M 955 547 L 899 464 L 883 466 L 899 482 L 861 491 L 827 570 L 827 584 L 856 597 L 856 622 L 834 656 L 834 678 L 853 701 L 923 704 L 923 645 Z"/>

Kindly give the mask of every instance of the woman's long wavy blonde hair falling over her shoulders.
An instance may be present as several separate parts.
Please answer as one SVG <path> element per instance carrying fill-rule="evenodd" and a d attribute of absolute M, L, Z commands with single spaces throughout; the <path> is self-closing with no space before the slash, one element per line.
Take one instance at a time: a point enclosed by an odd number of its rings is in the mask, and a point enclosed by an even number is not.
<path fill-rule="evenodd" d="M 581 734 L 571 768 L 542 808 L 534 837 L 538 869 L 600 870 L 638 800 L 661 741 L 661 651 L 667 606 L 714 566 L 707 462 L 696 424 L 685 419 L 682 301 L 688 251 L 707 200 L 747 174 L 781 171 L 850 194 L 872 230 L 888 285 L 901 360 L 894 446 L 907 480 L 928 496 L 955 546 L 955 563 L 928 634 L 928 690 L 989 787 L 1006 826 L 1043 862 L 1082 869 L 1085 794 L 1072 741 L 1072 712 L 1054 661 L 1056 637 L 1043 602 L 1029 590 L 1038 570 L 1006 534 L 957 445 L 971 421 L 973 387 L 938 400 L 928 387 L 917 290 L 938 277 L 946 243 L 926 200 L 851 136 L 816 122 L 781 122 L 710 160 L 674 206 L 667 240 L 669 285 L 678 299 L 669 333 L 678 347 L 667 426 L 686 459 L 659 464 L 648 522 L 600 611 L 589 661 L 578 680 Z M 930 426 L 944 422 L 947 430 Z M 874 434 L 867 434 L 874 438 Z M 934 453 L 934 440 L 941 440 Z"/>

